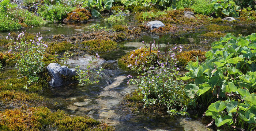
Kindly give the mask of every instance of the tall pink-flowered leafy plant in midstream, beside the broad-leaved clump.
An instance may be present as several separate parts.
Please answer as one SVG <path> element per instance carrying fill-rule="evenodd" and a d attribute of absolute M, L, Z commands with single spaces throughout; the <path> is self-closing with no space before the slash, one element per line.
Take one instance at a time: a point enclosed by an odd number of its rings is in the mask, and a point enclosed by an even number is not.
<path fill-rule="evenodd" d="M 150 46 L 150 49 L 158 52 L 157 56 L 153 56 L 154 53 L 148 56 L 151 60 L 155 59 L 154 57 L 163 56 L 163 54 L 160 55 L 159 45 L 158 48 L 156 47 L 155 42 Z M 151 63 L 151 60 L 146 61 L 146 63 L 140 62 L 144 57 L 143 54 L 132 56 L 136 59 L 136 63 L 128 66 L 133 71 L 137 71 L 138 76 L 128 75 L 127 78 L 131 79 L 128 80 L 127 84 L 136 84 L 139 93 L 144 96 L 144 107 L 166 107 L 167 112 L 171 115 L 187 115 L 186 110 L 189 102 L 183 90 L 184 83 L 176 80 L 179 68 L 176 66 L 175 56 L 182 51 L 181 48 L 175 47 L 170 51 L 166 50 L 165 60 L 158 58 L 157 64 Z"/>

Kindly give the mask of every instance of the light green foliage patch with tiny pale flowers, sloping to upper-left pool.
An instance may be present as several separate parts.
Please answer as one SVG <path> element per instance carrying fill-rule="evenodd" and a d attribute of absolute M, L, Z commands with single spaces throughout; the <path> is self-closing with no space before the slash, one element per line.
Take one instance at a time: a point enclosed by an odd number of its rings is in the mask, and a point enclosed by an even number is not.
<path fill-rule="evenodd" d="M 30 13 L 26 9 L 11 8 L 10 10 L 8 9 L 7 15 L 12 19 L 18 20 L 19 23 L 24 23 L 29 26 L 40 26 L 46 23 L 41 17 Z"/>

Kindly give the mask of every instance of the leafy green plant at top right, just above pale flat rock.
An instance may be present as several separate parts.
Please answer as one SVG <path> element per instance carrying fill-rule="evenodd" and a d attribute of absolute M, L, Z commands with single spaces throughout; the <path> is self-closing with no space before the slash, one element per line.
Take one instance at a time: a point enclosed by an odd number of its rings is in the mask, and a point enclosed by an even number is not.
<path fill-rule="evenodd" d="M 241 7 L 236 5 L 233 0 L 212 0 L 211 4 L 214 6 L 217 15 L 221 15 L 220 12 L 222 12 L 227 16 L 239 16 L 237 10 L 241 9 Z"/>

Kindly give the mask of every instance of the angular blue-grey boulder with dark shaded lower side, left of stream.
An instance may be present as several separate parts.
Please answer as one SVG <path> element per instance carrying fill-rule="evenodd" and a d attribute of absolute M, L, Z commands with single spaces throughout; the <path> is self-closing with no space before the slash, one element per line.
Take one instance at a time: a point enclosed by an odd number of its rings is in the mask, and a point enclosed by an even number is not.
<path fill-rule="evenodd" d="M 51 87 L 59 87 L 67 84 L 72 84 L 71 80 L 67 78 L 72 78 L 76 75 L 75 69 L 69 69 L 66 66 L 60 66 L 58 63 L 50 63 L 46 69 L 48 70 L 52 80 L 49 82 Z"/>

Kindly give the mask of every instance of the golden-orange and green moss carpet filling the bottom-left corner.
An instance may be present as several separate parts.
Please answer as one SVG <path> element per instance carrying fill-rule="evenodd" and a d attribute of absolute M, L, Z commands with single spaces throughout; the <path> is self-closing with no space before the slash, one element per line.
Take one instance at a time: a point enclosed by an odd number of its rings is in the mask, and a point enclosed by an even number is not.
<path fill-rule="evenodd" d="M 113 131 L 110 126 L 101 124 L 87 116 L 70 116 L 64 111 L 51 112 L 46 107 L 31 107 L 26 110 L 5 110 L 0 113 L 0 125 L 14 131 L 45 130 L 47 127 L 60 131 Z"/>

